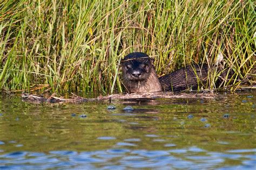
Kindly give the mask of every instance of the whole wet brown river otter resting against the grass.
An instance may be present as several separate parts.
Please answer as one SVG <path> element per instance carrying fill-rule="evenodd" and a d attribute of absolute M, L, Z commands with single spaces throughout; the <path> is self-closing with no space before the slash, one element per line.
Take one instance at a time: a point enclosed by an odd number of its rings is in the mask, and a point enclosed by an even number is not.
<path fill-rule="evenodd" d="M 123 83 L 129 93 L 194 89 L 207 80 L 208 67 L 205 64 L 180 68 L 158 78 L 153 61 L 140 52 L 130 53 L 122 59 Z"/>

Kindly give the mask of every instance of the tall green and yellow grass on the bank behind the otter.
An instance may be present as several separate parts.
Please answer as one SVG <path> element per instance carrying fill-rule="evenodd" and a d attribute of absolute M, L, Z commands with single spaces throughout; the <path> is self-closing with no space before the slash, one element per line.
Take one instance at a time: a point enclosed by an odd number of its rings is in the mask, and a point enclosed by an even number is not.
<path fill-rule="evenodd" d="M 163 75 L 224 57 L 233 80 L 255 83 L 254 1 L 0 2 L 0 87 L 5 91 L 118 93 L 118 62 L 155 58 Z M 253 38 L 254 37 L 254 38 Z M 254 74 L 253 74 L 254 72 Z M 205 88 L 215 88 L 213 69 Z M 241 81 L 222 87 L 235 90 Z"/>

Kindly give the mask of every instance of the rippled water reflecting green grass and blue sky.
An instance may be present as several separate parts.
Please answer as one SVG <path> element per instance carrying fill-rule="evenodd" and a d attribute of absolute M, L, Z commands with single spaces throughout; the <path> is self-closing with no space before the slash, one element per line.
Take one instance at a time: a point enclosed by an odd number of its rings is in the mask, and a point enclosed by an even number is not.
<path fill-rule="evenodd" d="M 113 101 L 115 109 L 2 96 L 0 168 L 255 169 L 255 96 Z"/>

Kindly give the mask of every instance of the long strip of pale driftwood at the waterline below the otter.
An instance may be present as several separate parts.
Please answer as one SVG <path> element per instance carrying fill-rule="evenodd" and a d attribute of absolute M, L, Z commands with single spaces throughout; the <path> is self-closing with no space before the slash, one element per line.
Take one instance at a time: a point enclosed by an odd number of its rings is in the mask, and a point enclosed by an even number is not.
<path fill-rule="evenodd" d="M 22 100 L 32 103 L 81 103 L 81 102 L 91 102 L 91 101 L 110 101 L 111 100 L 154 100 L 156 98 L 214 98 L 215 94 L 213 91 L 207 91 L 207 93 L 180 93 L 173 94 L 169 93 L 144 93 L 144 94 L 114 94 L 109 96 L 99 96 L 96 98 L 84 98 L 72 94 L 71 98 L 56 97 L 52 94 L 50 97 L 45 98 L 43 95 L 37 96 L 32 94 L 22 94 Z"/>

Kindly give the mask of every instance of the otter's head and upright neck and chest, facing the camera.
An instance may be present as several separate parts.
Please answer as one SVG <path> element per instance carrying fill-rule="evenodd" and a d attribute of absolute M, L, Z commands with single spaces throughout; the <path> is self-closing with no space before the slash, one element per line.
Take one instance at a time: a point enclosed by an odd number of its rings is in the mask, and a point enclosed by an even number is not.
<path fill-rule="evenodd" d="M 123 83 L 127 91 L 130 93 L 161 91 L 153 62 L 154 59 L 149 55 L 140 52 L 130 53 L 122 59 Z"/>

